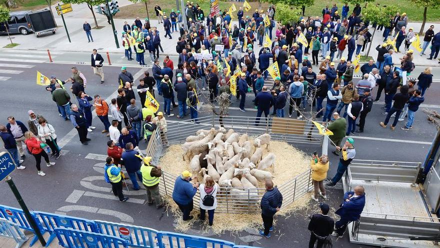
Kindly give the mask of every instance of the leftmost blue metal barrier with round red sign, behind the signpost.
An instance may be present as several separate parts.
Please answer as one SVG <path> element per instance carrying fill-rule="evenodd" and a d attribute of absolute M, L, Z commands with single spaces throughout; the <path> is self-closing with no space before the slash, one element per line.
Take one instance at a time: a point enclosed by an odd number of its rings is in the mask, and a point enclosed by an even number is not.
<path fill-rule="evenodd" d="M 39 227 L 39 229 L 42 230 L 41 223 L 35 217 L 35 214 L 31 212 L 30 215 L 32 215 L 32 217 L 35 219 L 36 225 Z M 20 227 L 21 229 L 35 233 L 35 231 L 30 226 L 29 222 L 27 221 L 26 216 L 24 216 L 23 210 L 19 208 L 0 205 L 0 217 L 17 224 L 18 227 Z M 37 240 L 38 237 L 35 235 L 33 239 L 30 241 L 29 246 L 32 246 Z"/>

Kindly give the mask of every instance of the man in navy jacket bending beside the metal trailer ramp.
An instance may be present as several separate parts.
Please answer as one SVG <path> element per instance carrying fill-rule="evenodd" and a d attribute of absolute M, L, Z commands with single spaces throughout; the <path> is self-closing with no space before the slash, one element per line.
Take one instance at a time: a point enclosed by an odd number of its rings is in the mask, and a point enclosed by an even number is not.
<path fill-rule="evenodd" d="M 342 237 L 348 223 L 359 219 L 360 213 L 365 206 L 365 192 L 360 185 L 354 187 L 354 191 L 345 192 L 342 204 L 339 205 L 334 213 L 340 216 L 340 219 L 334 224 L 332 236 Z"/>

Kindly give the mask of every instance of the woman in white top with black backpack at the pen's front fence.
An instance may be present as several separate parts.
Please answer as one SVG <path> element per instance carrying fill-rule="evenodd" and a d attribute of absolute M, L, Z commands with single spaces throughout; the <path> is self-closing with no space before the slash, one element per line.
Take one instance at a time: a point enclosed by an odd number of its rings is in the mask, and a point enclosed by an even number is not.
<path fill-rule="evenodd" d="M 205 183 L 198 186 L 200 190 L 200 220 L 204 220 L 206 210 L 208 211 L 208 224 L 212 225 L 214 220 L 214 210 L 217 207 L 217 186 L 212 177 L 207 177 Z"/>

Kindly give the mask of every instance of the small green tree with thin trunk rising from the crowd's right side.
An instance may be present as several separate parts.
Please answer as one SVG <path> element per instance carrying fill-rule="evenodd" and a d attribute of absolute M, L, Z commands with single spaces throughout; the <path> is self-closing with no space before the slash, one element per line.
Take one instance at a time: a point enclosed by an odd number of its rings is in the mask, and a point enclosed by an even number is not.
<path fill-rule="evenodd" d="M 371 49 L 372 40 L 374 33 L 376 33 L 376 27 L 379 25 L 386 26 L 389 24 L 390 18 L 398 12 L 398 8 L 394 5 L 389 5 L 386 7 L 379 7 L 376 5 L 367 5 L 362 9 L 362 19 L 363 21 L 369 21 L 370 24 L 376 24 L 374 27 L 373 34 L 371 35 L 371 42 L 369 43 L 368 51 L 366 56 L 369 54 Z"/>

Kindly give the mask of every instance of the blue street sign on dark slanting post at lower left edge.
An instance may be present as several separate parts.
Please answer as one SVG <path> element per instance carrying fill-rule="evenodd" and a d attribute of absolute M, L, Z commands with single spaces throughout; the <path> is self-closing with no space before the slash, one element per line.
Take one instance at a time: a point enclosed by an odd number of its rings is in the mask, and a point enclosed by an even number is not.
<path fill-rule="evenodd" d="M 23 198 L 20 195 L 20 192 L 18 192 L 17 187 L 15 186 L 14 182 L 12 181 L 12 178 L 9 176 L 9 174 L 15 170 L 15 167 L 16 167 L 16 164 L 15 164 L 14 160 L 12 159 L 12 156 L 10 155 L 10 153 L 1 152 L 0 153 L 0 181 L 3 179 L 6 179 L 6 182 L 9 185 L 10 190 L 12 190 L 12 193 L 14 194 L 15 198 L 17 199 L 18 204 L 20 205 L 21 209 L 23 210 L 24 216 L 26 216 L 27 221 L 29 222 L 32 229 L 35 231 L 35 235 L 38 237 L 39 242 L 44 247 L 46 245 L 46 241 L 44 240 L 43 236 L 41 235 L 40 229 L 38 228 L 38 225 L 36 224 L 35 219 L 33 219 L 32 215 L 30 215 L 29 209 L 27 208 L 26 204 L 24 203 Z"/>

